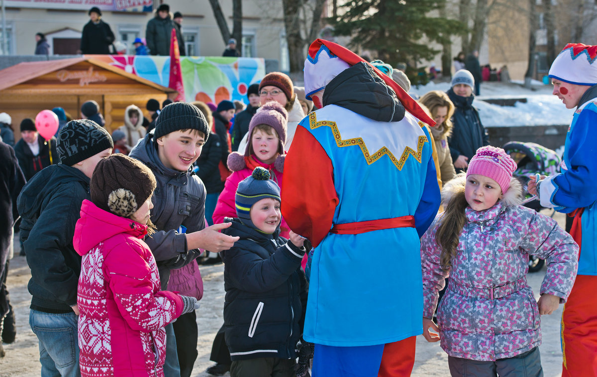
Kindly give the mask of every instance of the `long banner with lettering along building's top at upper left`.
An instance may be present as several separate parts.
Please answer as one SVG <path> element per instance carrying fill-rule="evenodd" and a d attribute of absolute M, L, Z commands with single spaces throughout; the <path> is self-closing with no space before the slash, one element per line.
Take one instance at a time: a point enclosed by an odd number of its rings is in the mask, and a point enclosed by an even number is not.
<path fill-rule="evenodd" d="M 151 12 L 153 0 L 4 0 L 6 7 L 103 11 Z"/>

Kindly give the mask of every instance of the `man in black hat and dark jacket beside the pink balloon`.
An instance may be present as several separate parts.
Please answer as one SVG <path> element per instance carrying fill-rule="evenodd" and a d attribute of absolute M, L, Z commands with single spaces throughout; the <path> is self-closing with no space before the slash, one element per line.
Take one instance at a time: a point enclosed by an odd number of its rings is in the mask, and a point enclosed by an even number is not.
<path fill-rule="evenodd" d="M 51 155 L 50 158 L 50 146 Z M 19 166 L 25 174 L 25 179 L 32 179 L 35 173 L 51 164 L 58 163 L 58 152 L 56 152 L 56 137 L 46 142 L 39 136 L 33 119 L 25 118 L 21 121 L 21 139 L 14 146 L 14 153 L 19 160 Z"/>

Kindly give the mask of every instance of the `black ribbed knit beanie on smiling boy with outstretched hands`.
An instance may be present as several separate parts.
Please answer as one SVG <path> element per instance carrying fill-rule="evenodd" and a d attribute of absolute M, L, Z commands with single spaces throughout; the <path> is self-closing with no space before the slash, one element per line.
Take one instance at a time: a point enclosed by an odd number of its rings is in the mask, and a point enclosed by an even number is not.
<path fill-rule="evenodd" d="M 201 131 L 205 135 L 205 141 L 207 141 L 210 126 L 201 111 L 190 103 L 174 102 L 163 108 L 155 120 L 153 140 L 157 140 L 171 132 L 188 130 L 189 128 Z"/>

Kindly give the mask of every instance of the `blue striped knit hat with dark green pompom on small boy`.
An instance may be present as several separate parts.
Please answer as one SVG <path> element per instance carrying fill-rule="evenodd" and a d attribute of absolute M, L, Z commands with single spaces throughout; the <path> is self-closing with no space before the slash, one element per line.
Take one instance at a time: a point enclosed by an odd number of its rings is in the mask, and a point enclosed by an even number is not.
<path fill-rule="evenodd" d="M 250 215 L 253 204 L 265 198 L 282 201 L 280 199 L 280 188 L 269 177 L 269 171 L 258 166 L 253 170 L 253 174 L 238 184 L 235 196 L 236 215 L 244 225 L 257 229 L 257 226 L 251 221 Z"/>

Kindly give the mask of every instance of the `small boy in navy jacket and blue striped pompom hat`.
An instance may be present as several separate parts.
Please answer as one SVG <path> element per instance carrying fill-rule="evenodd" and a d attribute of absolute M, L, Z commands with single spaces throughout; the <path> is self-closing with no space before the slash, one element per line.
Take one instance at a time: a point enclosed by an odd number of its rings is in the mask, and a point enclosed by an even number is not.
<path fill-rule="evenodd" d="M 224 326 L 230 376 L 293 376 L 307 289 L 304 238 L 279 237 L 280 189 L 257 167 L 236 190 L 238 219 L 223 232 L 240 240 L 224 260 Z"/>

